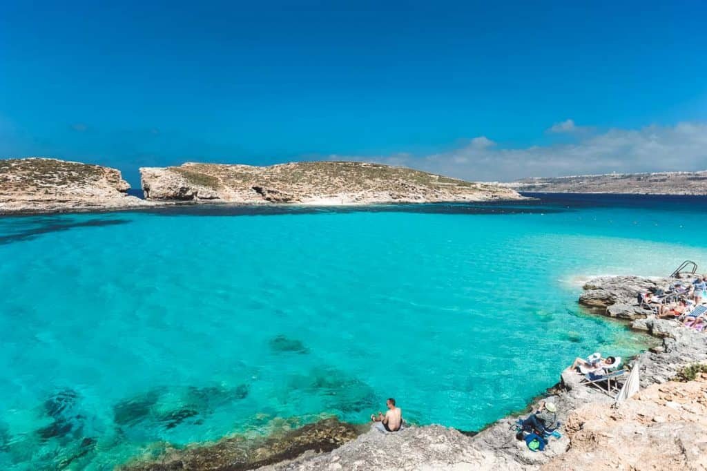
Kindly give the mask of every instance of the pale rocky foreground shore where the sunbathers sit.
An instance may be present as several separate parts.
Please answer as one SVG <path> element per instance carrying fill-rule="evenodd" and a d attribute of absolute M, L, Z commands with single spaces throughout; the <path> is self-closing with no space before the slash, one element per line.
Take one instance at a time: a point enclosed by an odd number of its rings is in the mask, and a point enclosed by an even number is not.
<path fill-rule="evenodd" d="M 707 434 L 707 378 L 689 383 L 672 380 L 681 368 L 707 361 L 707 335 L 674 321 L 647 318 L 648 311 L 635 306 L 637 291 L 672 281 L 675 280 L 600 277 L 585 284 L 581 305 L 598 315 L 630 320 L 632 329 L 656 337 L 660 345 L 630 362 L 640 363 L 641 392 L 618 406 L 599 390 L 580 385 L 580 376 L 574 371 L 569 368 L 563 371 L 560 382 L 543 398 L 556 404 L 563 436 L 551 439 L 543 453 L 528 450 L 511 430 L 519 417 L 527 416 L 526 412 L 504 417 L 479 434 L 464 434 L 438 425 L 411 426 L 395 434 L 370 429 L 359 434 L 361 429 L 349 426 L 342 429 L 343 434 L 329 436 L 329 441 L 336 445 L 329 449 L 321 446 L 321 436 L 311 439 L 310 446 L 305 445 L 309 440 L 306 437 L 311 435 L 310 426 L 291 433 L 291 440 L 300 437 L 294 441 L 299 446 L 284 446 L 291 453 L 279 453 L 282 445 L 271 450 L 282 459 L 277 462 L 270 458 L 264 462 L 258 453 L 255 453 L 258 459 L 249 460 L 249 453 L 229 448 L 226 439 L 212 446 L 173 450 L 157 460 L 127 469 L 238 470 L 259 466 L 262 470 L 707 469 L 703 453 L 706 442 L 701 438 Z M 528 410 L 530 406 L 537 407 L 537 402 L 529 405 Z M 326 423 L 334 429 L 340 424 L 331 419 Z M 303 453 L 295 455 L 295 452 Z M 194 461 L 194 455 L 200 461 Z"/>

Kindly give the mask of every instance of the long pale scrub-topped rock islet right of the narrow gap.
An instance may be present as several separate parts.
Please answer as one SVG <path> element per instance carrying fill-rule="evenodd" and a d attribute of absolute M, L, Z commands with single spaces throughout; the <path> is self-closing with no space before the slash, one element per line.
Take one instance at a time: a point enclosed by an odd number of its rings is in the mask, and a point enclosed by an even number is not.
<path fill-rule="evenodd" d="M 363 162 L 256 167 L 185 163 L 141 168 L 146 199 L 189 202 L 372 204 L 522 199 L 514 190 Z"/>

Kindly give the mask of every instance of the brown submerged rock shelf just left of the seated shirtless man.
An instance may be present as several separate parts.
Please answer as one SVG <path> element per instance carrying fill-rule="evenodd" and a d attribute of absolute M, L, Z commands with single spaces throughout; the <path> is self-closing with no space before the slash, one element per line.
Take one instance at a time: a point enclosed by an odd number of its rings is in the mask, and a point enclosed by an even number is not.
<path fill-rule="evenodd" d="M 368 429 L 368 426 L 366 426 Z M 210 446 L 172 450 L 158 460 L 131 463 L 125 471 L 252 470 L 296 458 L 305 451 L 322 453 L 354 440 L 363 429 L 337 419 L 324 419 L 269 438 L 225 438 Z"/>

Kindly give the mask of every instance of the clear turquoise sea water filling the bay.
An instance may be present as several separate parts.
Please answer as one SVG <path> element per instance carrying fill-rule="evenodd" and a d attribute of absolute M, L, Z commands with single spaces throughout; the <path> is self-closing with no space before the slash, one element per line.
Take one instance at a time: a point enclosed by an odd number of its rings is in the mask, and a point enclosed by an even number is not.
<path fill-rule="evenodd" d="M 0 468 L 112 469 L 323 413 L 366 421 L 388 396 L 479 429 L 575 356 L 638 352 L 580 313 L 578 280 L 707 260 L 703 212 L 570 196 L 0 218 Z"/>

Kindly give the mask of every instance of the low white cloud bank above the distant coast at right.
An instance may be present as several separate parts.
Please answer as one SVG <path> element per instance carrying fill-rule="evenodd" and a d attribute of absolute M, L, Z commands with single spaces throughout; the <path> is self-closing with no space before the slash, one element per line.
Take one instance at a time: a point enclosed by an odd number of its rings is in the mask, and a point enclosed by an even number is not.
<path fill-rule="evenodd" d="M 464 146 L 427 156 L 332 156 L 337 160 L 375 161 L 479 181 L 554 177 L 588 173 L 638 173 L 707 169 L 707 123 L 609 129 L 580 136 L 573 144 L 508 149 L 486 136 Z"/>

